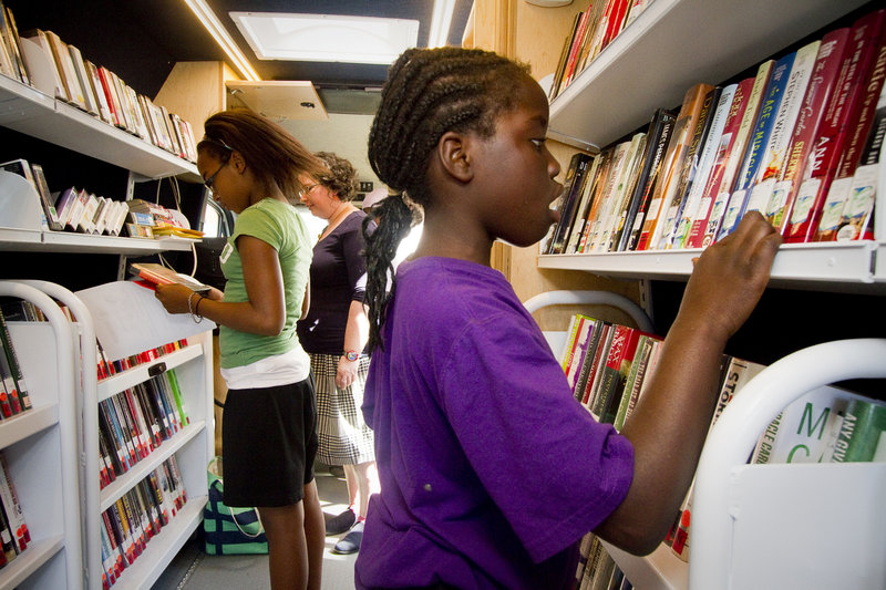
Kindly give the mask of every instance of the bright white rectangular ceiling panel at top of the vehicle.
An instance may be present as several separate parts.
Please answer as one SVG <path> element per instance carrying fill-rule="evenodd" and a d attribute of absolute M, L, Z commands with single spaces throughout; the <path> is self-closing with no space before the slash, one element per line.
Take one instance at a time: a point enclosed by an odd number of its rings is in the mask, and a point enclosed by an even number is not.
<path fill-rule="evenodd" d="M 389 64 L 419 39 L 419 21 L 230 12 L 259 60 Z"/>

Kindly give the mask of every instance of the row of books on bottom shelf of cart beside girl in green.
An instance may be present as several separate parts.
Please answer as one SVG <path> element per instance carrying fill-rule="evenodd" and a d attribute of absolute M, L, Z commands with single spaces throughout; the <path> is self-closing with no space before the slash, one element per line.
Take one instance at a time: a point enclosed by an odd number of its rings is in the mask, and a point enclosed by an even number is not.
<path fill-rule="evenodd" d="M 187 501 L 175 456 L 102 513 L 102 587 L 111 588 Z"/>

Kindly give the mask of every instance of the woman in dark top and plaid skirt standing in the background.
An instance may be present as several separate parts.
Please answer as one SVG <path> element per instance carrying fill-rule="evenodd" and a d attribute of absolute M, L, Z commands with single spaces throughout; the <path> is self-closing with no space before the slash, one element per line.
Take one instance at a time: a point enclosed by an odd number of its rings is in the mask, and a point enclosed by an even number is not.
<path fill-rule="evenodd" d="M 301 201 L 327 226 L 313 247 L 311 307 L 298 322 L 298 337 L 317 380 L 317 457 L 342 466 L 348 484 L 348 509 L 330 518 L 326 531 L 346 532 L 333 552 L 353 553 L 360 549 L 369 496 L 379 490 L 372 431 L 360 411 L 369 371 L 363 353 L 369 320 L 363 307 L 367 266 L 361 232 L 367 215 L 352 204 L 358 188 L 353 165 L 328 152 L 316 155 L 327 169 L 311 182 L 302 177 Z"/>

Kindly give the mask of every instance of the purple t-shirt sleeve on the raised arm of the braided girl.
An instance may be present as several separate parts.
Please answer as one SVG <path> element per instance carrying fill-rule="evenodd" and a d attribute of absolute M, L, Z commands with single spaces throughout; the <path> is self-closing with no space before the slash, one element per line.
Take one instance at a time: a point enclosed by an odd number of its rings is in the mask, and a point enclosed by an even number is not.
<path fill-rule="evenodd" d="M 532 318 L 515 321 L 524 311 L 472 313 L 442 363 L 439 402 L 483 486 L 538 562 L 618 507 L 633 449 L 575 402 Z"/>

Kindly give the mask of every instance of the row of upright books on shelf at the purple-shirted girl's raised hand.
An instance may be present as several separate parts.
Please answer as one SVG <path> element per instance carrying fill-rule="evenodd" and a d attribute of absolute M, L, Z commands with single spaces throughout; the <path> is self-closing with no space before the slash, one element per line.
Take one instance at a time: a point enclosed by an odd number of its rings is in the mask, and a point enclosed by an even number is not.
<path fill-rule="evenodd" d="M 703 248 L 746 211 L 785 242 L 873 239 L 886 133 L 886 10 L 690 87 L 643 132 L 567 168 L 543 253 Z"/>

